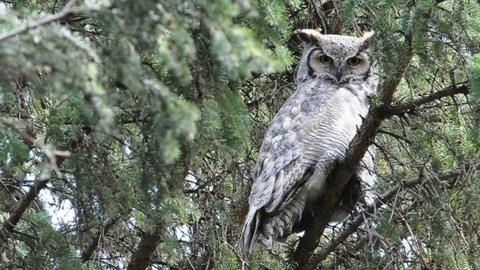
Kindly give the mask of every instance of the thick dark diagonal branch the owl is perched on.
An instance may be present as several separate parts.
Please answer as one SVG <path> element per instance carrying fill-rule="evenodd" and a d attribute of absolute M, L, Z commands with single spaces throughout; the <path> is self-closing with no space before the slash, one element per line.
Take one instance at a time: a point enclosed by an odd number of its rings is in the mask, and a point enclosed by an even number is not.
<path fill-rule="evenodd" d="M 396 69 L 396 73 L 394 73 L 389 80 L 386 80 L 379 88 L 381 89 L 381 100 L 383 101 L 383 104 L 387 106 L 391 104 L 393 94 L 402 80 L 405 70 L 409 66 L 410 60 L 413 56 L 411 34 L 406 37 L 405 43 L 406 48 L 403 53 L 404 57 L 402 57 L 403 61 Z M 387 115 L 384 106 L 370 109 L 359 132 L 353 138 L 345 159 L 338 164 L 337 168 L 328 177 L 327 182 L 335 184 L 325 185 L 325 195 L 315 203 L 316 207 L 312 209 L 312 221 L 309 222 L 309 224 L 306 224 L 307 229 L 305 230 L 305 234 L 300 239 L 298 247 L 293 254 L 293 259 L 297 264 L 298 269 L 312 269 L 308 262 L 313 251 L 318 246 L 325 227 L 330 221 L 333 211 L 338 204 L 340 195 L 347 185 L 348 180 L 355 172 L 371 142 L 375 138 L 380 123 Z"/>

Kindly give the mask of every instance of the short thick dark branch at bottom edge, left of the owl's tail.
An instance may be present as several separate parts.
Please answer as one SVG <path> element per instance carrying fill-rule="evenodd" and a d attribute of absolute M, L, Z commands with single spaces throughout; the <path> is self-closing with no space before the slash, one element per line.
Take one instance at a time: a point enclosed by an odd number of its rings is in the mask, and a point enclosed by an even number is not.
<path fill-rule="evenodd" d="M 132 259 L 128 264 L 128 270 L 144 270 L 149 266 L 151 257 L 157 249 L 162 235 L 163 228 L 161 225 L 157 225 L 153 232 L 145 232 L 138 244 L 137 251 L 132 255 Z"/>

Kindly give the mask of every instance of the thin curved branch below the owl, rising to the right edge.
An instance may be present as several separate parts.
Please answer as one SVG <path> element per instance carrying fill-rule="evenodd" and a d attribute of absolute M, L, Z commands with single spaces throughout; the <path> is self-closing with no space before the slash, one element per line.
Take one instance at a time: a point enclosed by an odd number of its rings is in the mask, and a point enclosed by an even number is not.
<path fill-rule="evenodd" d="M 349 225 L 348 228 L 343 230 L 334 240 L 332 240 L 326 247 L 324 247 L 318 254 L 315 254 L 312 260 L 309 263 L 309 267 L 314 269 L 317 267 L 327 256 L 333 252 L 340 244 L 342 244 L 347 238 L 357 231 L 360 225 L 363 224 L 365 218 L 368 216 L 372 216 L 375 211 L 381 208 L 383 205 L 388 203 L 392 200 L 395 195 L 405 189 L 405 188 L 412 188 L 415 186 L 423 185 L 426 182 L 431 182 L 434 180 L 446 181 L 448 185 L 453 185 L 457 179 L 463 176 L 466 172 L 472 172 L 475 170 L 480 169 L 480 163 L 470 163 L 454 170 L 451 170 L 446 173 L 442 174 L 435 174 L 428 177 L 420 177 L 415 179 L 410 179 L 406 181 L 402 181 L 401 184 L 396 185 L 395 187 L 391 188 L 389 191 L 384 193 L 382 196 L 379 196 L 373 204 L 368 206 L 364 211 L 357 215 Z"/>

